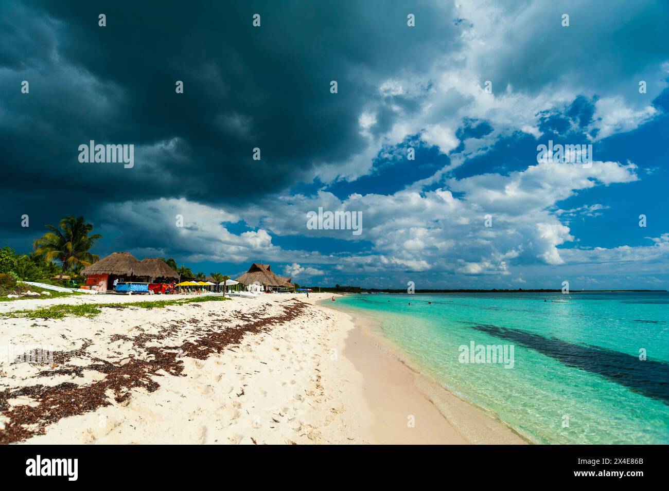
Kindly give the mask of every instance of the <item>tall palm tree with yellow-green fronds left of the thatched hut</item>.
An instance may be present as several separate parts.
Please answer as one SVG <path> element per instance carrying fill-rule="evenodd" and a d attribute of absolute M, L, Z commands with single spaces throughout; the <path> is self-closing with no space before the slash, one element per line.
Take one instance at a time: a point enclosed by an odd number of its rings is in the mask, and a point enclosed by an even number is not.
<path fill-rule="evenodd" d="M 83 216 L 65 216 L 60 220 L 60 230 L 53 225 L 47 225 L 49 232 L 33 242 L 35 253 L 41 255 L 46 261 L 58 259 L 62 263 L 59 281 L 63 279 L 66 269 L 72 269 L 76 265 L 84 267 L 92 265 L 100 259 L 99 256 L 91 254 L 90 248 L 100 234 L 88 235 L 93 230 L 93 225 L 86 223 Z"/>

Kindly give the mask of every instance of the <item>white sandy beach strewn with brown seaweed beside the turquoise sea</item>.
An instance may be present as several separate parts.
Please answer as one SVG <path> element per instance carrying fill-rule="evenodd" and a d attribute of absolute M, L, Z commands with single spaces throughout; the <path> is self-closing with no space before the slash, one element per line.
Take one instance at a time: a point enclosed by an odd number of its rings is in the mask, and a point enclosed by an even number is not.
<path fill-rule="evenodd" d="M 418 375 L 364 319 L 315 305 L 329 297 L 162 309 L 131 303 L 179 296 L 1 303 L 0 315 L 62 303 L 118 307 L 92 318 L 0 319 L 0 346 L 56 352 L 49 365 L 0 360 L 0 442 L 524 443 Z"/>

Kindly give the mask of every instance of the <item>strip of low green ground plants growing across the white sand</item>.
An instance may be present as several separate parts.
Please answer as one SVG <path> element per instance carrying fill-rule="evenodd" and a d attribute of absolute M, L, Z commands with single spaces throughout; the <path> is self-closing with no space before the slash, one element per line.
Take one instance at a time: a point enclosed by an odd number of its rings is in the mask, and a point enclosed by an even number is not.
<path fill-rule="evenodd" d="M 2 314 L 4 317 L 39 317 L 41 319 L 62 319 L 63 317 L 95 317 L 100 309 L 105 307 L 126 308 L 137 307 L 139 309 L 162 309 L 169 305 L 185 305 L 187 303 L 204 302 L 222 302 L 227 300 L 225 297 L 203 296 L 195 299 L 177 299 L 177 300 L 155 300 L 132 303 L 83 303 L 80 305 L 54 305 L 43 309 L 20 310 Z"/>

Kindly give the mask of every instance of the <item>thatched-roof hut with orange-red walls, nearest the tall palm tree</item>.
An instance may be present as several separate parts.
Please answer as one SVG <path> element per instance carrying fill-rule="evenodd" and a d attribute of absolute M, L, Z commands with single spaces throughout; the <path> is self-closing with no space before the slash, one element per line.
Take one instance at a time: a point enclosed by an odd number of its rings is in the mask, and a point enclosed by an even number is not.
<path fill-rule="evenodd" d="M 112 253 L 84 269 L 82 274 L 86 276 L 86 286 L 106 292 L 114 289 L 116 279 L 120 283 L 148 283 L 153 271 L 130 253 Z"/>

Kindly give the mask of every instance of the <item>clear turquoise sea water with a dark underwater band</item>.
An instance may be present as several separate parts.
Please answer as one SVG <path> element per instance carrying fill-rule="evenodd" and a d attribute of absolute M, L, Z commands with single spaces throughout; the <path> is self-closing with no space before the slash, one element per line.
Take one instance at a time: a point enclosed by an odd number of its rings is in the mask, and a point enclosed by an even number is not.
<path fill-rule="evenodd" d="M 533 442 L 669 444 L 669 293 L 347 295 L 337 306 L 380 321 L 426 375 Z M 472 341 L 512 345 L 513 368 L 462 363 Z"/>

